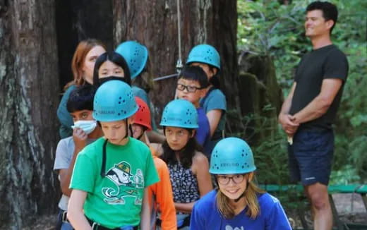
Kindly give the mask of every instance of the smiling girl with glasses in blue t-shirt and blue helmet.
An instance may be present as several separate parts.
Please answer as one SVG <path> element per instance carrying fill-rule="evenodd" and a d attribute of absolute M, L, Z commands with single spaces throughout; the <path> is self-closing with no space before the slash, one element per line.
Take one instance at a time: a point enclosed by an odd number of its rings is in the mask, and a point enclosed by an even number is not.
<path fill-rule="evenodd" d="M 220 140 L 209 170 L 218 188 L 195 203 L 190 229 L 291 229 L 279 200 L 253 183 L 255 169 L 253 153 L 244 140 Z"/>

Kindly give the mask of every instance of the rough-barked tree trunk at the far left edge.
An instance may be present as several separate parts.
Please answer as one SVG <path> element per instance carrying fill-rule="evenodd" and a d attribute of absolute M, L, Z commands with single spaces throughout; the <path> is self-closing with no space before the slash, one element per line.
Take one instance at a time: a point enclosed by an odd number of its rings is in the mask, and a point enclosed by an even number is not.
<path fill-rule="evenodd" d="M 1 229 L 22 229 L 59 198 L 54 12 L 52 0 L 0 1 Z"/>

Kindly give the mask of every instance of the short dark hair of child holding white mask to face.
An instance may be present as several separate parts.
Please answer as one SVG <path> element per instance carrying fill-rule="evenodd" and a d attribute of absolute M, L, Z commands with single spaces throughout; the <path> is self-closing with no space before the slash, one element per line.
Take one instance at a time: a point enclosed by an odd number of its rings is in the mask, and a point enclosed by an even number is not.
<path fill-rule="evenodd" d="M 93 110 L 93 99 L 95 97 L 95 87 L 93 85 L 80 85 L 71 91 L 66 103 L 69 113 L 81 110 Z"/>

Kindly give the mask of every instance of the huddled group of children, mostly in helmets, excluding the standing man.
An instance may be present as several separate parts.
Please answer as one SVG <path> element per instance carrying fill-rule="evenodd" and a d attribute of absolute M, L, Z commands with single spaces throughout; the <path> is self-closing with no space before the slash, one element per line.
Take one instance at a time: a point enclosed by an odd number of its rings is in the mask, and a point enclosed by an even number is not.
<path fill-rule="evenodd" d="M 131 86 L 147 61 L 134 41 L 114 52 L 78 45 L 57 111 L 58 229 L 291 229 L 279 200 L 253 183 L 250 147 L 224 138 L 217 50 L 193 47 L 162 132 L 147 93 Z"/>

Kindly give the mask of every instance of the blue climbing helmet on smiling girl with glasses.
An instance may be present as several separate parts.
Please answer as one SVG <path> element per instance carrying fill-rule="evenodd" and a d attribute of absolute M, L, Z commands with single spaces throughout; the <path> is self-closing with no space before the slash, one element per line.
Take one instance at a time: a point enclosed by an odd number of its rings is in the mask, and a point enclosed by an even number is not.
<path fill-rule="evenodd" d="M 210 174 L 246 174 L 255 171 L 253 152 L 240 138 L 224 138 L 215 145 L 210 158 Z"/>

